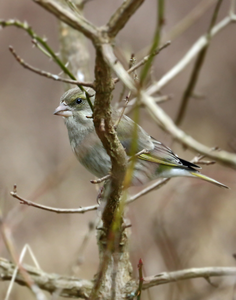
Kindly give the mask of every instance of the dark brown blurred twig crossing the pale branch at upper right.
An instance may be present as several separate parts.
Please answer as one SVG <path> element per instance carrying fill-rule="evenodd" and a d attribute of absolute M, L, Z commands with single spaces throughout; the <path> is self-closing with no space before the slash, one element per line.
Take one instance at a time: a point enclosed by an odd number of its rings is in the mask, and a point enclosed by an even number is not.
<path fill-rule="evenodd" d="M 189 99 L 190 99 L 190 97 L 191 97 L 191 95 L 194 91 L 194 88 L 197 84 L 201 67 L 203 66 L 207 50 L 210 46 L 210 40 L 211 40 L 210 32 L 211 32 L 213 26 L 216 23 L 216 18 L 218 16 L 219 8 L 220 8 L 221 4 L 222 4 L 222 0 L 218 0 L 217 4 L 216 4 L 216 7 L 215 7 L 215 10 L 213 12 L 213 16 L 212 16 L 212 19 L 211 19 L 211 22 L 210 22 L 210 26 L 207 30 L 207 35 L 206 35 L 207 44 L 203 47 L 203 49 L 201 49 L 201 51 L 199 52 L 198 57 L 196 59 L 195 65 L 194 65 L 193 70 L 192 70 L 192 74 L 191 74 L 190 79 L 189 79 L 189 83 L 186 87 L 186 90 L 184 91 L 184 94 L 183 94 L 183 97 L 182 97 L 182 100 L 181 100 L 180 109 L 178 111 L 176 121 L 175 121 L 176 125 L 180 125 L 181 122 L 183 121 L 183 118 L 184 118 L 186 110 L 187 110 Z"/>

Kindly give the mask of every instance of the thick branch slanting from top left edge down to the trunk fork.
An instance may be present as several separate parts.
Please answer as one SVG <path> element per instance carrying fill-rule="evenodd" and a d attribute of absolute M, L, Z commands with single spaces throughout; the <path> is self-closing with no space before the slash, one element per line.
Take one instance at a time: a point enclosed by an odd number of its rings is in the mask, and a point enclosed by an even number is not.
<path fill-rule="evenodd" d="M 87 38 L 92 41 L 98 39 L 98 30 L 96 27 L 85 19 L 82 15 L 74 14 L 70 10 L 63 7 L 59 2 L 54 0 L 33 0 L 35 3 L 44 7 L 62 22 L 65 22 L 74 29 L 82 32 Z"/>

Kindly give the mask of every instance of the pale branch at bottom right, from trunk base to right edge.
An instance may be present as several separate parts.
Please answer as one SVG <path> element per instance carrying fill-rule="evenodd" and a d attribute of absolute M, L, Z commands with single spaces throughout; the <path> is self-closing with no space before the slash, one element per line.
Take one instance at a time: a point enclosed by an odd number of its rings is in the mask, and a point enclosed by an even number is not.
<path fill-rule="evenodd" d="M 191 268 L 186 270 L 163 272 L 155 276 L 145 277 L 143 289 L 148 289 L 152 286 L 176 282 L 179 280 L 192 279 L 192 278 L 210 278 L 219 276 L 235 276 L 235 267 L 208 267 L 208 268 Z M 138 285 L 138 282 L 137 282 Z"/>

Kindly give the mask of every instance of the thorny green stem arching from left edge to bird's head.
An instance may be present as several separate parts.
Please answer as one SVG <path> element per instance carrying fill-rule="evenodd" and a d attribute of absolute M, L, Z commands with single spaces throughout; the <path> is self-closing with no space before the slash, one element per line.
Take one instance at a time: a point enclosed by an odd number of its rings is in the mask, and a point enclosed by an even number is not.
<path fill-rule="evenodd" d="M 41 46 L 44 47 L 44 49 L 47 51 L 47 53 L 49 53 L 51 55 L 51 57 L 53 58 L 53 60 L 56 62 L 56 64 L 59 65 L 59 67 L 62 69 L 62 71 L 67 74 L 72 80 L 77 80 L 75 78 L 75 76 L 69 71 L 69 69 L 65 66 L 65 64 L 63 64 L 63 62 L 58 58 L 58 56 L 55 54 L 55 52 L 50 48 L 50 46 L 47 44 L 46 40 L 41 38 L 40 36 L 38 36 L 31 28 L 31 26 L 28 25 L 27 22 L 20 22 L 19 20 L 14 20 L 14 19 L 10 19 L 10 20 L 0 20 L 0 26 L 2 26 L 3 28 L 6 26 L 16 26 L 20 29 L 25 30 L 29 36 L 37 41 L 39 44 L 41 44 Z M 88 92 L 83 88 L 82 85 L 78 85 L 78 87 L 85 92 L 86 94 L 86 100 L 89 103 L 89 106 L 91 108 L 91 110 L 93 111 L 93 106 L 92 103 L 89 99 L 89 94 Z"/>

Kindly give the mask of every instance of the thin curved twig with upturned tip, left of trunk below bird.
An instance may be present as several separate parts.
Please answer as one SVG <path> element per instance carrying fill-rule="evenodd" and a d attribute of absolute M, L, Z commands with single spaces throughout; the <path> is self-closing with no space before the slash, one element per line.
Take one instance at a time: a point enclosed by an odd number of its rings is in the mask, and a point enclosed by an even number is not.
<path fill-rule="evenodd" d="M 50 206 L 46 206 L 46 205 L 41 205 L 26 199 L 21 198 L 20 196 L 17 195 L 17 190 L 16 190 L 17 186 L 16 184 L 14 185 L 14 190 L 13 192 L 11 192 L 11 196 L 13 196 L 14 198 L 20 200 L 21 204 L 26 204 L 29 206 L 34 206 L 37 208 L 41 208 L 47 211 L 52 211 L 52 212 L 56 212 L 57 214 L 83 214 L 86 211 L 92 211 L 92 210 L 97 210 L 99 205 L 92 205 L 92 206 L 87 206 L 87 207 L 80 207 L 80 208 L 54 208 L 54 207 L 50 207 Z"/>

